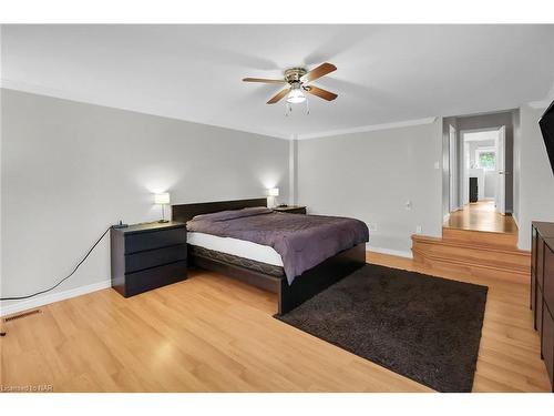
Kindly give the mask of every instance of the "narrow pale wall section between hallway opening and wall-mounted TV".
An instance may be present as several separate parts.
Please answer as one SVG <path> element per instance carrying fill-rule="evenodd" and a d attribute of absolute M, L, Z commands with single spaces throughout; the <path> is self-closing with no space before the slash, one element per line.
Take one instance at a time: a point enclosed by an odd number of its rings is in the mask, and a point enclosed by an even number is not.
<path fill-rule="evenodd" d="M 531 248 L 531 221 L 554 221 L 554 175 L 538 128 L 543 112 L 544 109 L 527 105 L 520 109 L 520 138 L 515 141 L 515 154 L 520 163 L 517 245 L 523 250 Z"/>

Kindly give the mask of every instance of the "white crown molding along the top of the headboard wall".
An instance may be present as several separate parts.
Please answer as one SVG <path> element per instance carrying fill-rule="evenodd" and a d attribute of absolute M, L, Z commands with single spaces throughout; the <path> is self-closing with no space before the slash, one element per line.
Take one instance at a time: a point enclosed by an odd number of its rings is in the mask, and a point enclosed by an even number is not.
<path fill-rule="evenodd" d="M 205 122 L 199 122 L 199 121 L 194 121 L 194 120 L 187 120 L 187 119 L 183 119 L 182 116 L 178 116 L 175 114 L 168 114 L 168 113 L 164 113 L 164 112 L 155 112 L 155 111 L 144 110 L 144 109 L 140 109 L 140 108 L 131 108 L 129 105 L 116 103 L 116 102 L 107 102 L 106 100 L 103 100 L 100 97 L 93 97 L 90 94 L 80 94 L 80 93 L 58 90 L 58 89 L 53 89 L 53 88 L 49 88 L 49 87 L 44 87 L 44 85 L 31 84 L 31 83 L 21 82 L 21 81 L 9 80 L 6 78 L 0 79 L 0 88 L 7 89 L 7 90 L 27 92 L 27 93 L 37 94 L 37 95 L 45 95 L 45 97 L 51 97 L 51 98 L 57 98 L 57 99 L 62 99 L 62 100 L 68 100 L 68 101 L 74 101 L 74 102 L 84 103 L 84 104 L 100 105 L 100 106 L 105 106 L 105 108 L 110 108 L 110 109 L 132 111 L 132 112 L 141 113 L 141 114 L 162 116 L 165 119 L 181 120 L 181 121 L 186 121 L 188 123 L 209 125 L 213 128 L 235 130 L 235 131 L 239 131 L 239 132 L 244 132 L 244 133 L 253 133 L 253 134 L 264 135 L 264 136 L 267 136 L 270 139 L 290 140 L 290 134 L 268 132 L 268 131 L 264 131 L 264 130 L 259 130 L 259 129 L 254 129 L 254 130 L 253 129 L 245 129 L 244 126 L 239 126 L 239 125 L 213 124 L 213 123 L 205 123 Z"/>

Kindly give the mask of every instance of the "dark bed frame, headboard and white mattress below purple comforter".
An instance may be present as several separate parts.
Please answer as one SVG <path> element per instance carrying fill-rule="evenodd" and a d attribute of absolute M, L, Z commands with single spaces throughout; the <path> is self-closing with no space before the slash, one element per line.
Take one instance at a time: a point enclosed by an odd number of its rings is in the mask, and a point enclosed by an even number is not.
<path fill-rule="evenodd" d="M 201 215 L 218 215 L 222 212 L 239 212 L 238 210 L 257 207 L 267 207 L 267 199 L 178 204 L 172 206 L 172 217 L 174 221 L 188 223 L 188 227 L 191 227 L 191 224 L 202 219 Z M 259 210 L 263 211 L 263 209 Z M 293 221 L 294 217 L 289 215 L 300 214 L 281 213 L 279 215 L 285 215 L 286 219 L 290 219 L 287 221 Z M 316 216 L 311 217 L 316 219 Z M 195 221 L 192 221 L 193 219 Z M 281 222 L 283 220 L 284 217 L 276 219 L 276 221 Z M 299 217 L 296 219 L 297 222 L 299 220 Z M 222 235 L 224 234 L 214 235 L 209 232 L 198 232 L 198 229 L 188 232 L 189 265 L 218 272 L 276 293 L 279 315 L 291 311 L 366 263 L 366 244 L 360 242 L 328 256 L 302 271 L 301 274 L 291 276 L 291 274 L 298 273 L 297 271 L 296 273 L 290 272 L 297 264 L 289 258 L 285 258 L 284 263 L 281 256 L 271 246 Z M 289 271 L 288 276 L 286 270 Z"/>

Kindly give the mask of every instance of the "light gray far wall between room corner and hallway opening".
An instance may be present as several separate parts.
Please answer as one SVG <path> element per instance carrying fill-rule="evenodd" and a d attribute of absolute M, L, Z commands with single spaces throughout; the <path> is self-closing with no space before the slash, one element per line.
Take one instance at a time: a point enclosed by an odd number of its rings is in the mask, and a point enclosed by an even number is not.
<path fill-rule="evenodd" d="M 299 201 L 310 213 L 353 216 L 370 246 L 410 255 L 417 225 L 442 234 L 442 119 L 431 124 L 352 133 L 298 143 Z M 407 210 L 407 201 L 412 209 Z"/>

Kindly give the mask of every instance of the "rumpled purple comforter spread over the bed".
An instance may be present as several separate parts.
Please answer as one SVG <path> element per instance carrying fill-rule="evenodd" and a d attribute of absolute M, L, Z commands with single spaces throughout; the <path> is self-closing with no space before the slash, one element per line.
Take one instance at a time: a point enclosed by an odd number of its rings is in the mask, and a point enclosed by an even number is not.
<path fill-rule="evenodd" d="M 324 260 L 369 240 L 368 227 L 359 220 L 278 213 L 265 207 L 197 215 L 186 227 L 274 247 L 283 258 L 289 284 Z"/>

